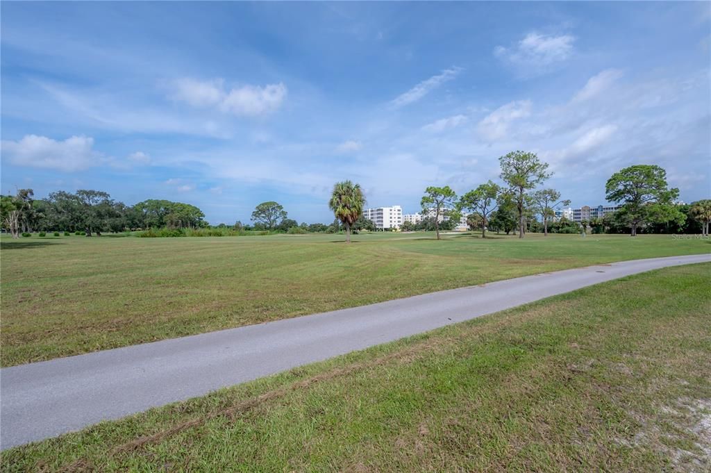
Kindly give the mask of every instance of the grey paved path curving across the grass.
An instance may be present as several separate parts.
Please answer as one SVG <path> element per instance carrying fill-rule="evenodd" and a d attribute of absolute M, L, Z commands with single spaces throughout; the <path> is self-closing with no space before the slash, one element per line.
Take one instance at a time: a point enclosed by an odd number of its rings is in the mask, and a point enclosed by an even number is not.
<path fill-rule="evenodd" d="M 0 447 L 159 405 L 661 267 L 711 255 L 632 260 L 518 277 L 353 309 L 0 370 Z"/>

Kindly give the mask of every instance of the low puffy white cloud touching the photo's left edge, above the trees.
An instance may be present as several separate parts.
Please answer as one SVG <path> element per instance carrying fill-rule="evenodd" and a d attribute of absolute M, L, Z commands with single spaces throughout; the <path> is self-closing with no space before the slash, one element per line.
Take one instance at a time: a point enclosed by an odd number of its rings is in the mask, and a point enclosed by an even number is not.
<path fill-rule="evenodd" d="M 4 159 L 18 166 L 31 166 L 60 171 L 81 171 L 98 166 L 105 157 L 94 149 L 90 137 L 70 137 L 63 142 L 28 134 L 23 139 L 2 142 Z"/>

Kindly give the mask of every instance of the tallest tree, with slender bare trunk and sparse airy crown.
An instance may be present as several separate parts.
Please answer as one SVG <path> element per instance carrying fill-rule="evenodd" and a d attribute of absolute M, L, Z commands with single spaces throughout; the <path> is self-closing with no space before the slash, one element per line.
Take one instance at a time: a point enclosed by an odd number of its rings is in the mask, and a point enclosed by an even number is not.
<path fill-rule="evenodd" d="M 525 209 L 527 191 L 548 179 L 548 164 L 540 161 L 535 153 L 515 151 L 501 156 L 501 179 L 508 184 L 518 211 L 518 238 L 525 232 Z"/>

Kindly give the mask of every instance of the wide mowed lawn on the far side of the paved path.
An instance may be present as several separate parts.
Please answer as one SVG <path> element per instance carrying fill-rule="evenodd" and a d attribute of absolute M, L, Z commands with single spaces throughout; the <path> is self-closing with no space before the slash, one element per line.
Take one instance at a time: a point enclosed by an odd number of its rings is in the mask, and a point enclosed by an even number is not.
<path fill-rule="evenodd" d="M 492 235 L 496 236 L 496 235 Z M 1 239 L 1 365 L 538 272 L 708 253 L 670 235 Z"/>

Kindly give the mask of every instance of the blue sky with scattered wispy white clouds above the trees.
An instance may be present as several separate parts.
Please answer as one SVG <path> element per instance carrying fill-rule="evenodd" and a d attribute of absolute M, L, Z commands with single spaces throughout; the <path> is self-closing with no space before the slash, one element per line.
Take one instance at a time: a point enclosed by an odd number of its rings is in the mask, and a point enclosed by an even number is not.
<path fill-rule="evenodd" d="M 711 197 L 711 2 L 9 2 L 1 192 L 257 203 L 329 222 L 336 181 L 420 210 L 535 152 L 572 206 L 631 164 Z"/>

